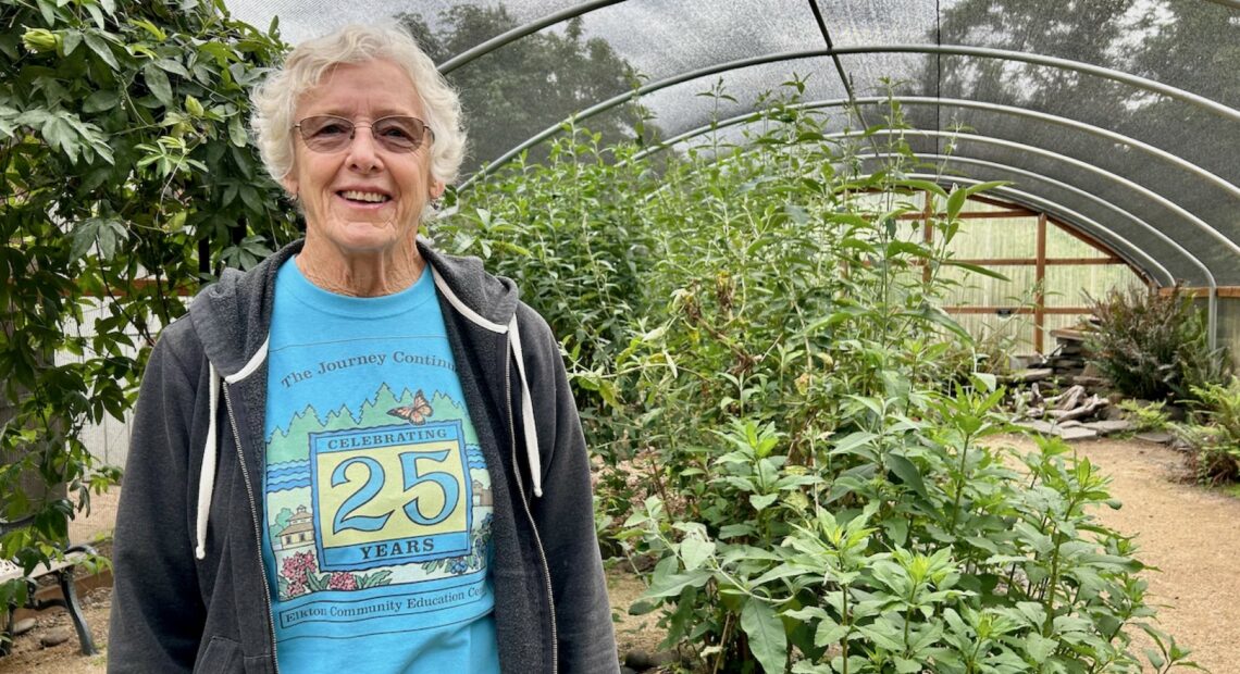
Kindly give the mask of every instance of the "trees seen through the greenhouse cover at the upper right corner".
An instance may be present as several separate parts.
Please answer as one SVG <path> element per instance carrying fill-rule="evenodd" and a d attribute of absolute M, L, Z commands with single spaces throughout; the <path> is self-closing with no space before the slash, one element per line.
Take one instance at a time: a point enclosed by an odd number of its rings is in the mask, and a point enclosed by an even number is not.
<path fill-rule="evenodd" d="M 942 11 L 939 33 L 945 45 L 1066 57 L 1235 107 L 1240 104 L 1240 79 L 1235 77 L 1240 46 L 1230 14 L 1224 6 L 1193 0 L 1056 5 L 962 0 Z M 941 89 L 945 97 L 1060 114 L 1156 145 L 1182 139 L 1185 129 L 1195 130 L 1199 138 L 1228 129 L 1214 113 L 1101 77 L 999 58 L 941 58 L 941 81 L 935 58 L 925 61 L 919 77 L 923 90 Z M 1203 141 L 1193 144 L 1188 156 L 1229 176 L 1235 165 L 1233 155 L 1226 144 Z"/>

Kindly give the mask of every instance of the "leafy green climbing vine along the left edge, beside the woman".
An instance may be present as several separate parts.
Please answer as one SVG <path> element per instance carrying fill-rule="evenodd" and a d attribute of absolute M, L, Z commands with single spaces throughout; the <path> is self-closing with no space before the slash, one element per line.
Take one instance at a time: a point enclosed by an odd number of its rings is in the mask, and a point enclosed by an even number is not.
<path fill-rule="evenodd" d="M 247 87 L 283 50 L 219 0 L 0 0 L 0 518 L 33 515 L 0 559 L 55 554 L 118 478 L 79 431 L 133 405 L 180 296 L 293 232 L 246 130 Z M 88 306 L 89 338 L 72 327 Z"/>

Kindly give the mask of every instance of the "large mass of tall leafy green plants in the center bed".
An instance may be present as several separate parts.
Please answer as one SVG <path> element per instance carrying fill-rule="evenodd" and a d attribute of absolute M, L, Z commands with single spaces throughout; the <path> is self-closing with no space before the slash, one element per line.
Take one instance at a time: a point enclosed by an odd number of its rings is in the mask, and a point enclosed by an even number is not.
<path fill-rule="evenodd" d="M 631 147 L 610 149 L 625 161 L 608 170 L 603 152 L 577 152 L 578 180 L 625 178 L 573 185 L 609 204 L 572 206 L 563 182 L 527 182 L 544 168 L 525 166 L 461 197 L 463 213 L 528 203 L 506 219 L 517 238 L 502 253 L 527 278 L 542 265 L 593 276 L 594 258 L 558 254 L 580 234 L 546 232 L 610 204 L 649 250 L 614 244 L 630 274 L 616 280 L 641 289 L 626 304 L 549 292 L 553 307 L 609 318 L 582 335 L 625 336 L 590 361 L 568 351 L 574 385 L 608 392 L 588 410 L 603 533 L 658 560 L 634 611 L 661 608 L 670 644 L 711 672 L 1138 672 L 1136 626 L 1183 660 L 1146 623 L 1131 539 L 1091 514 L 1118 507 L 1107 479 L 1059 440 L 1012 467 L 987 440 L 1008 429 L 994 377 L 945 358 L 970 338 L 936 309 L 940 270 L 967 197 L 990 186 L 909 180 L 898 138 L 831 140 L 795 105 L 801 83 L 789 88 L 764 98 L 742 146 L 715 135 L 662 172 Z M 861 171 L 869 142 L 895 159 Z M 925 192 L 945 213 L 932 244 L 900 221 Z M 551 204 L 570 207 L 549 218 Z M 482 224 L 448 230 L 470 240 Z"/>

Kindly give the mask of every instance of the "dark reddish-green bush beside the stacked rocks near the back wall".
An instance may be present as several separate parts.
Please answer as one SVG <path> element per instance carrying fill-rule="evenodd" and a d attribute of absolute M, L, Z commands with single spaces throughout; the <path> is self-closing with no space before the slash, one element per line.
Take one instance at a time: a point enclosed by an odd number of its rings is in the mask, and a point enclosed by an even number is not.
<path fill-rule="evenodd" d="M 1132 286 L 1087 300 L 1096 322 L 1090 362 L 1130 398 L 1192 400 L 1193 387 L 1230 369 L 1226 352 L 1209 348 L 1202 312 L 1179 286 L 1166 294 Z"/>

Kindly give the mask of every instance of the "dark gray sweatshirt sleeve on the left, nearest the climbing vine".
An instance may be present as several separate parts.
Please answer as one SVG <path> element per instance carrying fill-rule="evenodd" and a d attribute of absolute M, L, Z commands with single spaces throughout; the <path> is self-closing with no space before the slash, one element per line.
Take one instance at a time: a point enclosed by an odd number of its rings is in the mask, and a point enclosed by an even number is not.
<path fill-rule="evenodd" d="M 192 338 L 188 321 L 164 331 L 138 396 L 113 541 L 112 674 L 191 672 L 202 636 L 188 476 L 196 384 L 205 368 L 186 368 L 175 353 Z"/>

